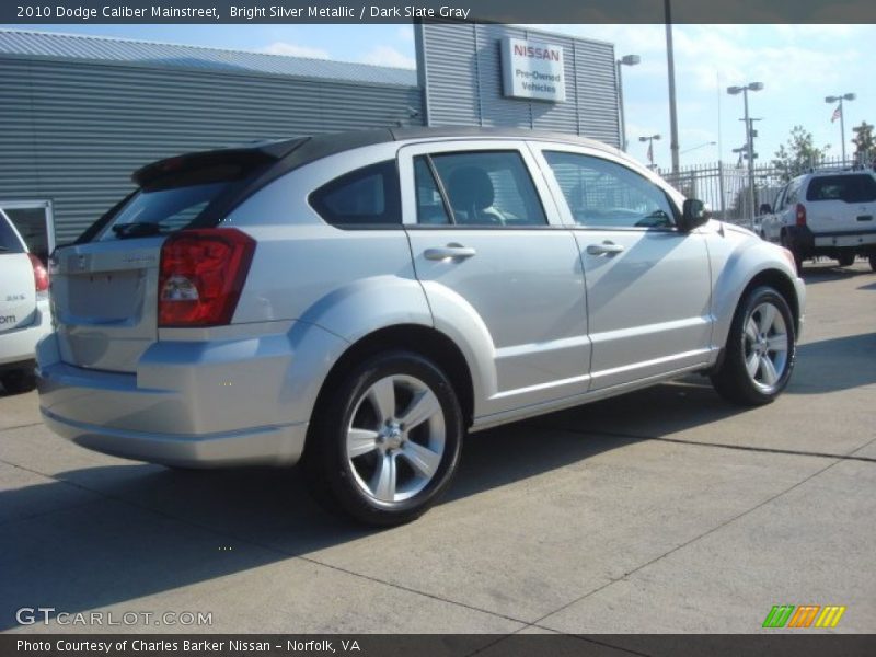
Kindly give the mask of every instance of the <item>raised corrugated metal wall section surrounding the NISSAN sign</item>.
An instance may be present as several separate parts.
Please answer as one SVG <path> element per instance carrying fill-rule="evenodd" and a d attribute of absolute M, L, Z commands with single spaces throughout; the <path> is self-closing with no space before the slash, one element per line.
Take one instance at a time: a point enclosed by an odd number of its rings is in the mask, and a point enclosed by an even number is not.
<path fill-rule="evenodd" d="M 620 146 L 613 45 L 494 24 L 425 23 L 422 30 L 429 125 L 535 128 Z M 565 103 L 503 95 L 504 36 L 563 46 Z"/>

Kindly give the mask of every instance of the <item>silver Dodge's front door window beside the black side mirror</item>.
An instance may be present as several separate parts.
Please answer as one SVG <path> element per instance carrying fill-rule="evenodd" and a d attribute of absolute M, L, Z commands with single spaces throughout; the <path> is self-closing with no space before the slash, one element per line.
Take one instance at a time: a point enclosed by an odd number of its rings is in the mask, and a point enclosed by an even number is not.
<path fill-rule="evenodd" d="M 671 228 L 675 210 L 662 189 L 601 158 L 545 151 L 575 222 L 601 228 Z"/>

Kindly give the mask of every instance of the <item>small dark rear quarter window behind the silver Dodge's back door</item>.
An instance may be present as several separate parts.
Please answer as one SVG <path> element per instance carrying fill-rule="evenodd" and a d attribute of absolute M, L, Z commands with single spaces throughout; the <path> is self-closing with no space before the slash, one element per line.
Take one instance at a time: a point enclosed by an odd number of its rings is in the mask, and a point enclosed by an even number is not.
<path fill-rule="evenodd" d="M 357 169 L 310 195 L 310 205 L 332 226 L 402 223 L 402 197 L 394 160 Z"/>

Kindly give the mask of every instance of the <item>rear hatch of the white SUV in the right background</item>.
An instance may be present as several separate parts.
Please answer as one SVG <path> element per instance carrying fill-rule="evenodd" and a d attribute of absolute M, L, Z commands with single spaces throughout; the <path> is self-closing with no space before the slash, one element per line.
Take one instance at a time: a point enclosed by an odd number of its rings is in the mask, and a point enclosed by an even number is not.
<path fill-rule="evenodd" d="M 806 222 L 816 234 L 876 231 L 876 177 L 871 173 L 815 176 L 806 201 Z"/>

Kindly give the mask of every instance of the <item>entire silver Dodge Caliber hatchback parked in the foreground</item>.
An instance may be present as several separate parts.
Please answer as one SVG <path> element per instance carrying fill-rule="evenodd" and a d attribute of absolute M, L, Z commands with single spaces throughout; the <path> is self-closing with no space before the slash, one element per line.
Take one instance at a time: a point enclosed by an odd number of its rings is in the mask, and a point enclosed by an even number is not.
<path fill-rule="evenodd" d="M 685 372 L 780 394 L 793 256 L 595 141 L 385 129 L 163 160 L 50 263 L 39 404 L 102 452 L 301 460 L 374 525 L 448 487 L 466 431 Z"/>

